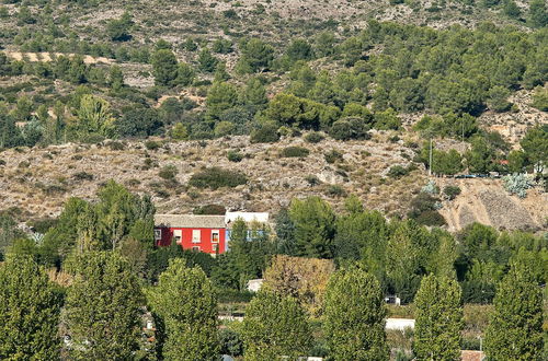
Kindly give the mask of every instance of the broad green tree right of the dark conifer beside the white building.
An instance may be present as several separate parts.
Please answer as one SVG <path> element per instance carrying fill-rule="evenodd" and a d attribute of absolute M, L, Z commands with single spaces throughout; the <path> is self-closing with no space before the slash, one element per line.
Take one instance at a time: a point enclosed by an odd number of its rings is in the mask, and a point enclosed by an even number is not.
<path fill-rule="evenodd" d="M 295 225 L 295 247 L 297 256 L 331 258 L 335 214 L 329 203 L 312 196 L 304 200 L 294 198 L 289 217 Z"/>

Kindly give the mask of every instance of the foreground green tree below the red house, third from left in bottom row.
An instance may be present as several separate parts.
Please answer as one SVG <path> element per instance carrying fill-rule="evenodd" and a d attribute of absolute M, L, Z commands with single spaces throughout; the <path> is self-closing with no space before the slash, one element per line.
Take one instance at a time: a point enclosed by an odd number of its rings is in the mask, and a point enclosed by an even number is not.
<path fill-rule="evenodd" d="M 187 268 L 175 258 L 148 293 L 163 325 L 161 359 L 217 360 L 217 300 L 212 283 L 199 268 Z"/>

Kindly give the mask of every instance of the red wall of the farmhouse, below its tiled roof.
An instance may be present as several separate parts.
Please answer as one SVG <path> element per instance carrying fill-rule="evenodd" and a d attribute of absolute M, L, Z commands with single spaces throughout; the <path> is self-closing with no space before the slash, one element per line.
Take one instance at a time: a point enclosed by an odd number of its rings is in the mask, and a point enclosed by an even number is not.
<path fill-rule="evenodd" d="M 157 242 L 158 246 L 169 246 L 171 245 L 171 240 L 173 240 L 174 231 L 181 230 L 182 232 L 182 242 L 181 246 L 183 249 L 192 249 L 194 246 L 199 246 L 201 252 L 209 253 L 209 254 L 221 254 L 225 252 L 225 235 L 226 229 L 182 229 L 182 228 L 157 228 L 157 230 L 162 231 L 162 238 Z M 194 243 L 192 242 L 192 231 L 199 230 L 201 231 L 201 242 Z M 219 242 L 212 242 L 212 231 L 219 231 Z M 217 252 L 213 249 L 214 244 L 218 244 Z"/>

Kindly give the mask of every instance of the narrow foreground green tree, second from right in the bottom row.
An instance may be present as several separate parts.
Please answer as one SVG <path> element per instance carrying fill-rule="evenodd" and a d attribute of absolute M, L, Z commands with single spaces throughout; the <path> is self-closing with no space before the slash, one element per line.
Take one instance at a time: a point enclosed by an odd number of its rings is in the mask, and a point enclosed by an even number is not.
<path fill-rule="evenodd" d="M 460 360 L 464 326 L 460 286 L 454 279 L 426 276 L 416 292 L 413 351 L 416 360 Z"/>

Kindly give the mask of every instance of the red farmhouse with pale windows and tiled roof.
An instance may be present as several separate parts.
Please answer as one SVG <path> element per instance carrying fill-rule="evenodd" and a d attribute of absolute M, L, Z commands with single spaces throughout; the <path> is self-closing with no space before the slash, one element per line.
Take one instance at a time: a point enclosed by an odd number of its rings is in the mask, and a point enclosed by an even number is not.
<path fill-rule="evenodd" d="M 155 224 L 157 246 L 169 246 L 174 240 L 183 249 L 210 255 L 226 249 L 225 216 L 156 214 Z"/>

